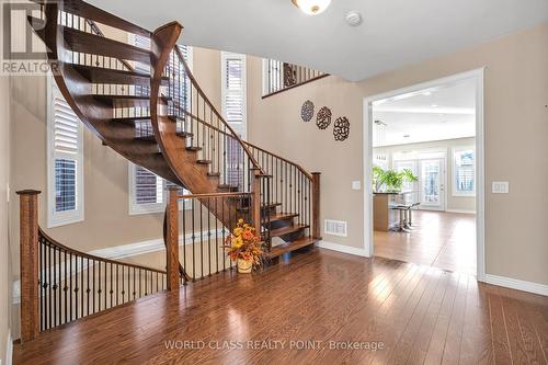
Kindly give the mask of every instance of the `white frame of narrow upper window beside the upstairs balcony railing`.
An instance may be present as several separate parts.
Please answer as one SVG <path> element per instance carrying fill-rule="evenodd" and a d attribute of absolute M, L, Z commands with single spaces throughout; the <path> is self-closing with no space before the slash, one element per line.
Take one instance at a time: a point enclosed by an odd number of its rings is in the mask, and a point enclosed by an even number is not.
<path fill-rule="evenodd" d="M 230 123 L 227 119 L 227 68 L 226 64 L 228 59 L 240 59 L 242 62 L 242 122 L 241 123 Z M 220 53 L 220 100 L 221 100 L 221 114 L 225 121 L 230 124 L 235 132 L 239 133 L 242 138 L 246 138 L 248 130 L 248 64 L 246 55 L 235 54 L 231 52 Z"/>

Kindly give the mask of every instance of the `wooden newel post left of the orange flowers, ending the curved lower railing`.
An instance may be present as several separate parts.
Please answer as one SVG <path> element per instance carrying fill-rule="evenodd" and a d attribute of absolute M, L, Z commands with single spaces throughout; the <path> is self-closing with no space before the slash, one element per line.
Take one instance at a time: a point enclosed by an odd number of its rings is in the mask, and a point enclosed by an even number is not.
<path fill-rule="evenodd" d="M 168 290 L 179 289 L 179 191 L 170 187 L 165 235 Z"/>

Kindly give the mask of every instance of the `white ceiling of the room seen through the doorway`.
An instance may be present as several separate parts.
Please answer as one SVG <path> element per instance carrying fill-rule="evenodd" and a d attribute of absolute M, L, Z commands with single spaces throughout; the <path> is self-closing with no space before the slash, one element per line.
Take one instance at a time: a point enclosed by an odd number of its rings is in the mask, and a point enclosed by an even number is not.
<path fill-rule="evenodd" d="M 374 147 L 415 144 L 476 135 L 473 80 L 385 99 L 373 104 L 384 138 L 374 125 Z"/>

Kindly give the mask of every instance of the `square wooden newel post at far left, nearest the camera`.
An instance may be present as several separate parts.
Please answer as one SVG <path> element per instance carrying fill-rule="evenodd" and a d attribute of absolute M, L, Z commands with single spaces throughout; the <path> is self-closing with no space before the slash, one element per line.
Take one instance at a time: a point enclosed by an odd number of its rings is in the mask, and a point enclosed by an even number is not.
<path fill-rule="evenodd" d="M 20 201 L 21 341 L 32 341 L 39 332 L 38 315 L 38 194 L 18 192 Z"/>

